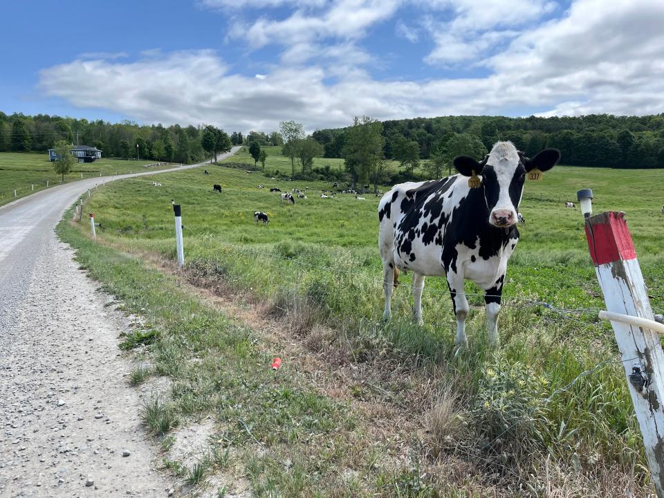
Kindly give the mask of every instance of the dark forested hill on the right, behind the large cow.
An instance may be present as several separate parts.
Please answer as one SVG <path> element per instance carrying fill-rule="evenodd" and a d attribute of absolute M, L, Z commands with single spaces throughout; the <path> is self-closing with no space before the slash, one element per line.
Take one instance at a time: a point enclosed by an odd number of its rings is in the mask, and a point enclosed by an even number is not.
<path fill-rule="evenodd" d="M 576 118 L 505 118 L 503 116 L 443 116 L 382 122 L 385 157 L 398 159 L 416 142 L 421 159 L 454 155 L 461 146 L 480 154 L 497 140 L 510 140 L 532 156 L 555 147 L 562 164 L 664 168 L 664 114 Z M 342 157 L 347 129 L 322 129 L 313 137 L 326 157 Z"/>

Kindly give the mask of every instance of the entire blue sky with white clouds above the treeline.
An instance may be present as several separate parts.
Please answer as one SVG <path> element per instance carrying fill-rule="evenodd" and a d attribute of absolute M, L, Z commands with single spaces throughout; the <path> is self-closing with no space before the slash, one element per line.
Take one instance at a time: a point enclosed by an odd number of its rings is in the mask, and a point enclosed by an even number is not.
<path fill-rule="evenodd" d="M 50 1 L 2 7 L 0 110 L 313 131 L 353 116 L 664 112 L 664 2 Z"/>

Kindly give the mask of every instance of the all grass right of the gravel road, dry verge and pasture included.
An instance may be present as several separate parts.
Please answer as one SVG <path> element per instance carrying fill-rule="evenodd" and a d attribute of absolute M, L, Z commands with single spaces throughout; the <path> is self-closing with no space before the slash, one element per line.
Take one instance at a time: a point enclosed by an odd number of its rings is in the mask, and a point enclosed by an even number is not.
<path fill-rule="evenodd" d="M 286 161 L 290 167 L 288 158 L 270 156 L 268 168 Z M 561 389 L 619 358 L 611 327 L 593 311 L 602 297 L 581 214 L 564 201 L 591 187 L 595 212 L 627 212 L 652 304 L 661 309 L 664 172 L 558 166 L 544 181 L 526 183 L 526 225 L 508 268 L 501 347 L 486 348 L 483 299 L 467 284 L 470 349 L 454 358 L 454 315 L 442 279 L 427 279 L 425 326 L 410 320 L 409 277 L 394 295 L 394 321 L 380 320 L 377 198 L 320 199 L 315 190 L 329 183 L 208 170 L 210 176 L 201 169 L 165 174 L 158 190 L 136 178 L 95 194 L 86 209 L 104 225 L 102 244 L 89 241 L 85 225 L 63 223 L 60 232 L 128 311 L 147 315 L 154 342 L 145 354 L 156 365 L 152 375 L 174 379 L 167 403 L 176 416 L 215 417 L 235 455 L 232 469 L 217 471 L 248 476 L 258 496 L 646 492 L 620 363 Z M 309 187 L 308 199 L 286 205 L 268 192 L 272 186 Z M 183 206 L 185 225 L 187 263 L 176 277 L 127 256 L 174 259 L 171 199 Z M 270 215 L 267 227 L 254 224 L 257 210 Z M 270 319 L 287 324 L 286 336 L 235 329 L 178 278 L 266 305 Z M 540 302 L 577 311 L 556 313 Z M 279 381 L 260 367 L 275 349 L 289 365 Z M 303 358 L 314 358 L 315 367 Z M 292 465 L 275 465 L 282 454 Z"/>

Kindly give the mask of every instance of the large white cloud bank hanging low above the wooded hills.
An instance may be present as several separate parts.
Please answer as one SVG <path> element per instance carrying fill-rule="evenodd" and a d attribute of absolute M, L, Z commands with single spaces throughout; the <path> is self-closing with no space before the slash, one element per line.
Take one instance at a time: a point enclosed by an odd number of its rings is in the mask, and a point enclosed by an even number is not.
<path fill-rule="evenodd" d="M 546 9 L 546 3 L 540 5 Z M 291 119 L 310 131 L 340 127 L 362 114 L 397 119 L 513 115 L 514 109 L 544 109 L 545 116 L 659 113 L 663 24 L 661 1 L 578 0 L 559 19 L 517 26 L 506 30 L 508 35 L 486 31 L 468 41 L 470 48 L 459 48 L 477 61 L 485 46 L 503 44 L 483 59 L 485 77 L 376 80 L 364 68 L 374 63 L 372 55 L 344 40 L 311 45 L 324 54 L 316 64 L 302 63 L 310 57 L 306 53 L 288 55 L 296 48 L 306 51 L 304 44 L 293 44 L 280 64 L 256 76 L 234 73 L 214 51 L 198 50 L 151 53 L 133 61 L 80 57 L 44 69 L 40 84 L 46 95 L 75 106 L 110 109 L 142 122 L 210 122 L 243 131 L 271 131 Z M 326 58 L 351 62 L 326 64 Z"/>

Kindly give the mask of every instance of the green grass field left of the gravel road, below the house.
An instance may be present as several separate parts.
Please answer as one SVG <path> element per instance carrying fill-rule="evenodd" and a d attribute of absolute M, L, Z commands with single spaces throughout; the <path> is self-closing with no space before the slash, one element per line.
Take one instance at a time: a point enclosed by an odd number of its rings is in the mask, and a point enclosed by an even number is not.
<path fill-rule="evenodd" d="M 145 165 L 156 163 L 151 160 L 122 160 L 102 158 L 94 163 L 75 163 L 71 173 L 64 176 L 64 181 L 71 182 L 91 176 L 123 174 L 129 172 L 146 171 Z M 150 169 L 163 169 L 154 167 Z M 0 205 L 14 201 L 39 190 L 48 185 L 53 187 L 62 181 L 62 176 L 53 171 L 53 163 L 48 160 L 48 154 L 31 154 L 19 152 L 0 152 Z M 34 190 L 31 185 L 35 185 Z M 16 198 L 14 197 L 16 189 Z"/>

